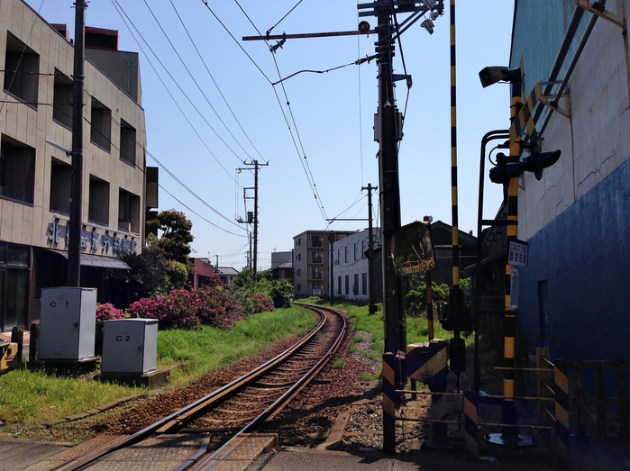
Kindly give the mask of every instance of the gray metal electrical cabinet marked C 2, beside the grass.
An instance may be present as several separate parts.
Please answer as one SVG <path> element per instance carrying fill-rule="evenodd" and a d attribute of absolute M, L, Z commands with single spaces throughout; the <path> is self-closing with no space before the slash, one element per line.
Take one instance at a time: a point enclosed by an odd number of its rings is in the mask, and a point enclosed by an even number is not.
<path fill-rule="evenodd" d="M 118 319 L 103 322 L 101 373 L 144 375 L 157 368 L 158 321 Z"/>

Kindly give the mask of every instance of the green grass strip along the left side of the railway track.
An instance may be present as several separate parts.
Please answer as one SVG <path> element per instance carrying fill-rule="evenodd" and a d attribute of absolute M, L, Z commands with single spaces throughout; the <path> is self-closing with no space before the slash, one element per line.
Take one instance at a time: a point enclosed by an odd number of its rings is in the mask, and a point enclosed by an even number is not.
<path fill-rule="evenodd" d="M 229 331 L 210 327 L 199 331 L 159 331 L 158 365 L 161 368 L 187 361 L 187 367 L 175 369 L 170 375 L 169 388 L 179 387 L 255 355 L 288 335 L 304 335 L 313 326 L 313 313 L 294 306 L 255 314 Z M 48 376 L 24 367 L 0 376 L 0 420 L 57 420 L 142 392 L 146 390 L 92 379 Z"/>

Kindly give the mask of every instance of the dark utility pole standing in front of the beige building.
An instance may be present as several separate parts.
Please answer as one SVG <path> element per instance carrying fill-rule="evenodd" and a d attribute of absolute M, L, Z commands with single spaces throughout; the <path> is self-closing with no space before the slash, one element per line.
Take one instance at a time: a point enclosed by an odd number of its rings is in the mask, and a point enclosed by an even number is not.
<path fill-rule="evenodd" d="M 81 284 L 81 229 L 83 222 L 83 90 L 86 40 L 85 0 L 75 3 L 75 55 L 72 112 L 72 181 L 70 186 L 70 221 L 68 222 L 68 286 Z"/>

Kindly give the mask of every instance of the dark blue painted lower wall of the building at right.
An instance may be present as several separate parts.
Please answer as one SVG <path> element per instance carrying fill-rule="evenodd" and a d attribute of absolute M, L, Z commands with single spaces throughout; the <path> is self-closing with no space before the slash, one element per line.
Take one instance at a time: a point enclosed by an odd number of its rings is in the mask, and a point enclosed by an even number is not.
<path fill-rule="evenodd" d="M 528 242 L 519 312 L 530 347 L 542 346 L 547 280 L 552 358 L 630 358 L 630 160 Z"/>

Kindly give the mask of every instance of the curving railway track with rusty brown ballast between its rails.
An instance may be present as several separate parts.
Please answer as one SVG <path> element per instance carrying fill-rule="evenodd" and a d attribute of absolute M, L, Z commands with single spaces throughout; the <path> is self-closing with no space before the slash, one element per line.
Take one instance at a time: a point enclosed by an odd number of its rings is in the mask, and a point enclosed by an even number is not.
<path fill-rule="evenodd" d="M 276 358 L 215 390 L 168 417 L 113 444 L 55 468 L 59 471 L 89 469 L 104 463 L 125 448 L 173 434 L 205 435 L 204 445 L 177 467 L 178 471 L 212 469 L 242 441 L 246 433 L 275 417 L 333 358 L 347 331 L 340 312 L 302 304 L 317 312 L 320 322 L 313 331 Z M 211 449 L 210 438 L 223 445 Z"/>

